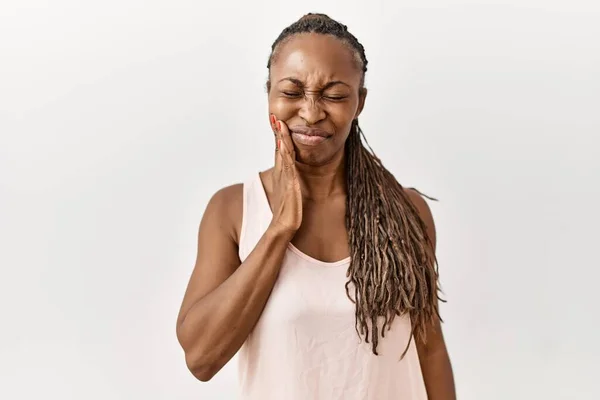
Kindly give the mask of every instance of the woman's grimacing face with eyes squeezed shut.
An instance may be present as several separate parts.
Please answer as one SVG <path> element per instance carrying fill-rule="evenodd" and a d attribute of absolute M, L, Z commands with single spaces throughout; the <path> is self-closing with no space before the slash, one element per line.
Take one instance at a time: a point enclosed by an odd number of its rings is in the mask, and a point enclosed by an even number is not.
<path fill-rule="evenodd" d="M 277 49 L 270 71 L 269 112 L 290 130 L 297 161 L 324 165 L 343 154 L 366 90 L 354 54 L 339 39 L 305 33 Z"/>

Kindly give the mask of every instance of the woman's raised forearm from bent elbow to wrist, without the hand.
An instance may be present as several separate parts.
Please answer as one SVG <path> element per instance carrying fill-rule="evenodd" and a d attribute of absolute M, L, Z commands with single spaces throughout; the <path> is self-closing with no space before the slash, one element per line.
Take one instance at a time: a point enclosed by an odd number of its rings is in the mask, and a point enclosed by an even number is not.
<path fill-rule="evenodd" d="M 244 343 L 267 302 L 291 235 L 270 227 L 246 260 L 197 301 L 179 327 L 188 365 L 210 379 Z"/>

